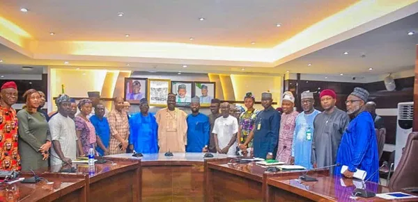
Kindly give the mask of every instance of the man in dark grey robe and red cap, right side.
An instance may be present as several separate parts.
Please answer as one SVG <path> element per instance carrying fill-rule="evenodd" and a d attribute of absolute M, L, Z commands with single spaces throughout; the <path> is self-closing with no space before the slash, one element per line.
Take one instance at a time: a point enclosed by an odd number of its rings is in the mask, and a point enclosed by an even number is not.
<path fill-rule="evenodd" d="M 312 138 L 311 163 L 316 167 L 335 164 L 336 153 L 341 136 L 350 123 L 346 112 L 336 108 L 334 90 L 323 90 L 319 94 L 320 105 L 324 111 L 314 119 L 314 137 Z M 333 169 L 330 169 L 332 174 Z"/>

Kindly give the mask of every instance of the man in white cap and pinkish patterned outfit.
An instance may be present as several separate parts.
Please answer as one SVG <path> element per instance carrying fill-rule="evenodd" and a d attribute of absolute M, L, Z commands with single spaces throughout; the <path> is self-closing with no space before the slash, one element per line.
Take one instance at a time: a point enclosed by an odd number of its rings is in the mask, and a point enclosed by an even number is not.
<path fill-rule="evenodd" d="M 281 99 L 281 108 L 283 114 L 281 115 L 280 131 L 279 131 L 279 146 L 277 148 L 276 160 L 291 163 L 293 133 L 295 132 L 295 121 L 299 112 L 293 110 L 295 106 L 295 96 L 292 92 L 286 91 Z"/>

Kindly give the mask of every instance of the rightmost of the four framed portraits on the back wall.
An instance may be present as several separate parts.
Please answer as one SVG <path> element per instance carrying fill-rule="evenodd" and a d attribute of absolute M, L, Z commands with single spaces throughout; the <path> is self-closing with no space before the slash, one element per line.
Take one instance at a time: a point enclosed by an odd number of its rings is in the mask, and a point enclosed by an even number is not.
<path fill-rule="evenodd" d="M 210 106 L 210 101 L 216 95 L 216 83 L 195 81 L 194 92 L 196 96 L 199 96 L 201 106 Z"/>

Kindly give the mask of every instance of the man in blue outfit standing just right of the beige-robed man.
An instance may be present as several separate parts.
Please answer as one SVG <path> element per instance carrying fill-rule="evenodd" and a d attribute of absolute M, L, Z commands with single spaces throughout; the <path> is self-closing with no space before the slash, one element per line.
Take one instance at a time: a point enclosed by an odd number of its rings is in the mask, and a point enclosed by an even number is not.
<path fill-rule="evenodd" d="M 200 99 L 198 96 L 192 98 L 187 121 L 187 145 L 186 152 L 208 152 L 210 123 L 209 117 L 199 112 Z"/>

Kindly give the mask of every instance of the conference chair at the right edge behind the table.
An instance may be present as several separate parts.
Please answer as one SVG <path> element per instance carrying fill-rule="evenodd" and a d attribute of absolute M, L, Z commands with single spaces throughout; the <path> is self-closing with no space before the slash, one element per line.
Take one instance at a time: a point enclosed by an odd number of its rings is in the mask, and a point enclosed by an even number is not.
<path fill-rule="evenodd" d="M 394 171 L 392 179 L 389 181 L 389 190 L 399 192 L 402 190 L 418 192 L 418 133 L 413 132 L 408 136 L 405 150 L 403 150 L 401 160 Z"/>

